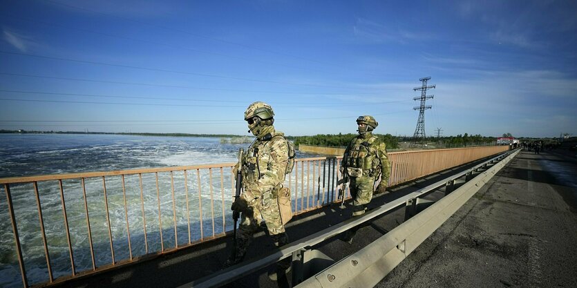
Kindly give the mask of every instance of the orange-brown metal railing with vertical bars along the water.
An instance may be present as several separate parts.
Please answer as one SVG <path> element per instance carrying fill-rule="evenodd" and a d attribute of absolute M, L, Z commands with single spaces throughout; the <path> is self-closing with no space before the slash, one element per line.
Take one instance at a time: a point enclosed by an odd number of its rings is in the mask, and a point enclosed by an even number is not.
<path fill-rule="evenodd" d="M 390 153 L 389 185 L 504 150 L 507 146 Z M 294 214 L 337 200 L 340 159 L 296 159 L 285 181 L 292 190 Z M 12 260 L 0 264 L 17 262 L 21 284 L 30 287 L 30 283 L 61 282 L 223 237 L 232 230 L 227 219 L 234 196 L 233 166 L 0 179 L 6 194 L 6 204 L 0 202 L 0 232 L 13 236 L 13 241 L 0 239 L 2 259 Z M 35 272 L 28 273 L 27 267 Z"/>

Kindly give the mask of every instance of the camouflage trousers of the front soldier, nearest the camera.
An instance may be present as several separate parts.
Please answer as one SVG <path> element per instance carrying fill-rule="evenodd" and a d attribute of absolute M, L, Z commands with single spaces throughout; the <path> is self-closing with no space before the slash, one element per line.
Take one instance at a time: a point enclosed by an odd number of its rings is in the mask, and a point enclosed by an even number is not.
<path fill-rule="evenodd" d="M 240 224 L 238 231 L 236 231 L 236 258 L 231 259 L 230 262 L 233 262 L 231 264 L 243 260 L 253 235 L 258 231 L 262 220 L 265 220 L 269 236 L 276 247 L 288 243 L 276 195 L 265 193 L 261 198 L 249 203 L 247 211 L 240 214 Z"/>

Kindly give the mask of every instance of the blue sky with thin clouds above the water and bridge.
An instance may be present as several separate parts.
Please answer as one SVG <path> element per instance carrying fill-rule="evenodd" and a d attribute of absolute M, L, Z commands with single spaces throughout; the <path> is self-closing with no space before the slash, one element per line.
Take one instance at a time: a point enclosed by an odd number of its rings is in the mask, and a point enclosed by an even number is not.
<path fill-rule="evenodd" d="M 0 129 L 577 135 L 575 1 L 0 2 Z"/>

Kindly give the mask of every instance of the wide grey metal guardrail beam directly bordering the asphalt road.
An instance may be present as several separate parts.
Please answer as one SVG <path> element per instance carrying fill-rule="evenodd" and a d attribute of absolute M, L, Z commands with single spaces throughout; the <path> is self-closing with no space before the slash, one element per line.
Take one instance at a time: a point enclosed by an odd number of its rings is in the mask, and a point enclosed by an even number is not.
<path fill-rule="evenodd" d="M 403 224 L 363 247 L 357 253 L 339 260 L 334 265 L 304 280 L 296 287 L 374 287 L 460 209 L 486 182 L 489 182 L 491 177 L 519 151 L 519 149 L 511 151 L 422 190 L 423 195 L 442 186 L 451 187 L 446 191 L 448 195 L 416 215 L 415 210 L 418 209 L 416 206 L 422 195 L 411 198 L 406 202 L 406 218 L 409 219 Z M 455 181 L 461 177 L 464 177 L 465 183 L 451 191 Z"/>

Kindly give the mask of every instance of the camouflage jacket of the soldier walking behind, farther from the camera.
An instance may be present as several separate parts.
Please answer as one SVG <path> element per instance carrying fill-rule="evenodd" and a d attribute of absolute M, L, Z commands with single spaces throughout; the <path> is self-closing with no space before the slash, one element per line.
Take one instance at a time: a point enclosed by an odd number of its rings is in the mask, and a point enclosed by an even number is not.
<path fill-rule="evenodd" d="M 379 177 L 388 183 L 390 177 L 390 162 L 386 144 L 372 133 L 358 135 L 348 144 L 341 162 L 343 169 L 349 167 L 362 169 L 363 175 Z"/>

